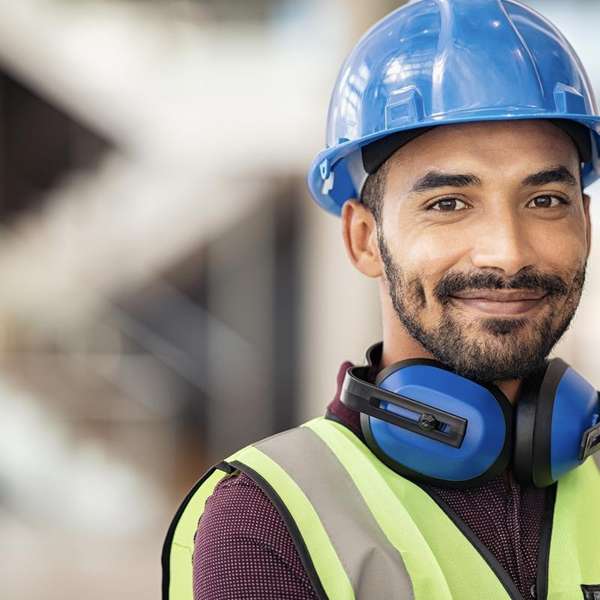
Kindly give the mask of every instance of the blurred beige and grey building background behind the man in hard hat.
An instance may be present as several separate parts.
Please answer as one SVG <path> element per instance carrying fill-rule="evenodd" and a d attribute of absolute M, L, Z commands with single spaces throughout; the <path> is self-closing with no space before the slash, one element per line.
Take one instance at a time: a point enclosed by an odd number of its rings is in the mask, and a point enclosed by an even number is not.
<path fill-rule="evenodd" d="M 323 414 L 380 338 L 305 173 L 342 59 L 399 4 L 1 3 L 2 600 L 158 600 L 204 469 Z M 600 91 L 600 5 L 531 4 Z M 599 301 L 596 245 L 557 353 L 597 386 Z"/>

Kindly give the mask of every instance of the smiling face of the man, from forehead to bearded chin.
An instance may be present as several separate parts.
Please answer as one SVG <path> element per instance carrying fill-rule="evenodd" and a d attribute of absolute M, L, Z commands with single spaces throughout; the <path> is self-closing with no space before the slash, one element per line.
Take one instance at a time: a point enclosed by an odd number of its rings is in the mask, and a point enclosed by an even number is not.
<path fill-rule="evenodd" d="M 531 373 L 579 303 L 588 200 L 574 143 L 547 121 L 439 127 L 407 144 L 377 231 L 397 317 L 467 377 Z"/>

